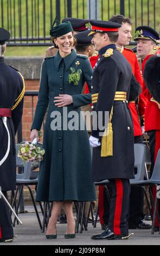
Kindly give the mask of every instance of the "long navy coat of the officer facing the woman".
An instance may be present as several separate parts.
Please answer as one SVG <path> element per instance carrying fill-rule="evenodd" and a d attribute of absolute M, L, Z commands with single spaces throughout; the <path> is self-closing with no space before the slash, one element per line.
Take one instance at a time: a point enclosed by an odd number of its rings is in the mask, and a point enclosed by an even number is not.
<path fill-rule="evenodd" d="M 112 54 L 104 56 L 108 50 Z M 113 49 L 113 51 L 112 51 Z M 134 147 L 133 124 L 126 101 L 114 101 L 117 92 L 126 92 L 129 98 L 132 70 L 125 57 L 116 49 L 116 45 L 108 45 L 99 51 L 100 57 L 95 64 L 92 94 L 98 93 L 98 101 L 94 103 L 97 114 L 101 112 L 105 125 L 105 111 L 112 115 L 113 156 L 101 157 L 101 146 L 93 148 L 93 181 L 104 179 L 134 178 Z M 97 115 L 98 116 L 98 115 Z M 93 124 L 98 124 L 100 118 L 94 118 Z M 96 125 L 95 125 L 96 127 Z M 103 133 L 92 130 L 92 136 L 101 141 Z"/>

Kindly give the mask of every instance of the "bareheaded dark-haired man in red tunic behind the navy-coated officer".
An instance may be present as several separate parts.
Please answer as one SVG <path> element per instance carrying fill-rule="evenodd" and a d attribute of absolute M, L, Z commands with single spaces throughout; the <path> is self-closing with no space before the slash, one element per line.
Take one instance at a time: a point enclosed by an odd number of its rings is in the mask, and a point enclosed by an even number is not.
<path fill-rule="evenodd" d="M 142 75 L 140 73 L 140 68 L 136 54 L 132 52 L 131 49 L 126 48 L 129 45 L 132 38 L 132 21 L 124 17 L 123 15 L 114 15 L 111 17 L 110 21 L 117 22 L 121 25 L 119 28 L 119 37 L 116 43 L 117 49 L 123 54 L 123 56 L 128 60 L 131 65 L 133 75 L 135 75 L 136 80 L 142 87 Z M 134 93 L 130 91 L 129 97 L 129 108 L 131 111 L 134 127 L 134 142 L 143 143 L 142 130 L 144 130 L 144 111 L 147 100 L 143 94 L 140 94 L 137 101 L 134 99 Z M 137 111 L 138 110 L 138 111 Z M 140 115 L 140 123 L 139 117 Z M 142 129 L 140 127 L 142 126 Z M 99 187 L 99 216 L 102 228 L 108 223 L 108 211 L 110 204 L 108 204 L 107 195 L 104 186 Z M 131 187 L 130 193 L 130 218 L 129 227 L 131 229 L 150 229 L 151 225 L 146 224 L 142 220 L 143 215 L 143 190 L 141 187 Z"/>

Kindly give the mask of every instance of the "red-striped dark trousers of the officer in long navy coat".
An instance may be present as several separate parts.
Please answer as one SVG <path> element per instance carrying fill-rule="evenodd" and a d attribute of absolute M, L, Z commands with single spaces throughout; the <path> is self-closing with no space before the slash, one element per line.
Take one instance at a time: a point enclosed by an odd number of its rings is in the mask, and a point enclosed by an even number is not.
<path fill-rule="evenodd" d="M 111 179 L 112 197 L 108 228 L 116 235 L 127 235 L 129 232 L 130 181 Z"/>

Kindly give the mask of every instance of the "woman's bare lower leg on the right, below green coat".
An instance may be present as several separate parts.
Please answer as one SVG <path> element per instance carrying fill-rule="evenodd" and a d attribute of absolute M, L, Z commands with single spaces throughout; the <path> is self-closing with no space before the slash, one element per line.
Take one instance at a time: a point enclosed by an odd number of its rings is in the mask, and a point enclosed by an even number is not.
<path fill-rule="evenodd" d="M 66 234 L 74 234 L 75 233 L 75 219 L 73 215 L 73 205 L 72 201 L 63 202 L 63 208 L 66 212 L 67 216 L 67 233 Z"/>

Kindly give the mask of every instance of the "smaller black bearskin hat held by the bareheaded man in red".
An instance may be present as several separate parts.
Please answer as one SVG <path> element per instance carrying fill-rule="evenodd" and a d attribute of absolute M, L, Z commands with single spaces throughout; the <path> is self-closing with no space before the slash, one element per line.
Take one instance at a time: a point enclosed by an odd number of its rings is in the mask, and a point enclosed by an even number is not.
<path fill-rule="evenodd" d="M 141 86 L 137 82 L 135 76 L 132 74 L 129 101 L 136 101 L 141 92 Z"/>

